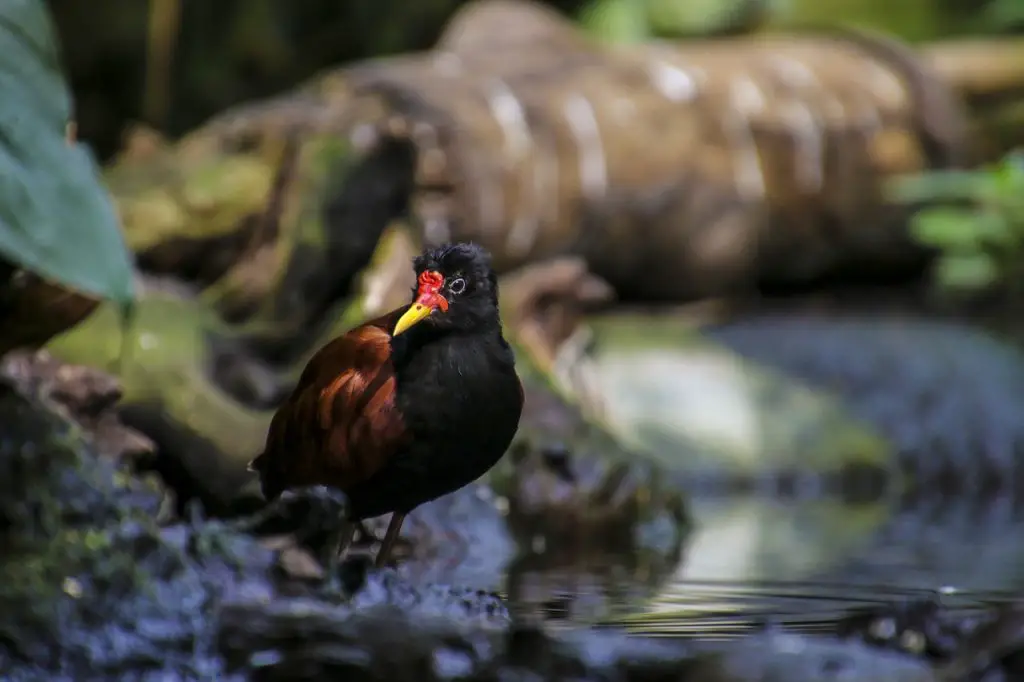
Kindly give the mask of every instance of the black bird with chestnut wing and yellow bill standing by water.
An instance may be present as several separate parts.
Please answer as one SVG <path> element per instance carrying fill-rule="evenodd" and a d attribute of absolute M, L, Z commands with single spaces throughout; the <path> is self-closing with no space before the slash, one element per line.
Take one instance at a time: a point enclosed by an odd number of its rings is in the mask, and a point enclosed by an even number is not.
<path fill-rule="evenodd" d="M 392 514 L 376 560 L 384 565 L 406 515 L 489 470 L 519 427 L 522 384 L 489 254 L 451 244 L 413 266 L 412 304 L 321 348 L 249 465 L 268 501 L 313 486 L 345 493 L 332 576 L 356 522 Z"/>

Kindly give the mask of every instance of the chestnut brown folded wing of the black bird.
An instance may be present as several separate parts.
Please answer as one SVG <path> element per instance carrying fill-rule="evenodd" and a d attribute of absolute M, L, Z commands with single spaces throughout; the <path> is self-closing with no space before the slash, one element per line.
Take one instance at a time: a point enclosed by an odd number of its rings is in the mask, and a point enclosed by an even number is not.
<path fill-rule="evenodd" d="M 351 330 L 310 358 L 250 465 L 264 497 L 301 485 L 349 491 L 406 442 L 388 332 L 397 312 Z"/>

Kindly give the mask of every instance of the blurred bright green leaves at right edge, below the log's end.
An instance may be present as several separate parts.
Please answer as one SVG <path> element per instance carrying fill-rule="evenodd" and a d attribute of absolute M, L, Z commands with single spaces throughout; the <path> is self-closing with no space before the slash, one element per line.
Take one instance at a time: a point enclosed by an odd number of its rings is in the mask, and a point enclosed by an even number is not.
<path fill-rule="evenodd" d="M 1019 289 L 1024 274 L 1024 151 L 977 170 L 901 178 L 899 201 L 921 203 L 911 232 L 938 250 L 935 275 L 950 291 Z"/>

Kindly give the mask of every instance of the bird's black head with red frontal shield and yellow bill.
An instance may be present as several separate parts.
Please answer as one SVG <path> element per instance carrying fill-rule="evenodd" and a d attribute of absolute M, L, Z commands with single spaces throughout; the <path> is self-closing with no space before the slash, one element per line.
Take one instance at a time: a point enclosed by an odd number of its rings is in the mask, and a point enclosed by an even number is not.
<path fill-rule="evenodd" d="M 418 256 L 413 267 L 413 303 L 395 324 L 393 336 L 419 325 L 470 332 L 500 323 L 498 278 L 482 247 L 446 244 Z"/>

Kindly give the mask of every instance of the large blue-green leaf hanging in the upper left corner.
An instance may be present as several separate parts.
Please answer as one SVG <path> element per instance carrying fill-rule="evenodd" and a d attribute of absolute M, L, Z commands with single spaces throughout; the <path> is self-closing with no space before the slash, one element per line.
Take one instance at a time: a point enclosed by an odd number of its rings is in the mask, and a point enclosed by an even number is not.
<path fill-rule="evenodd" d="M 43 0 L 0 2 L 0 255 L 127 305 L 133 265 L 92 155 L 71 144 L 71 97 Z"/>

